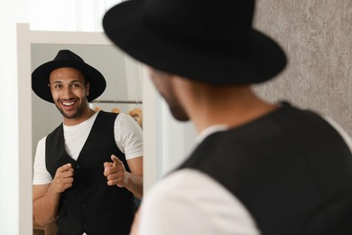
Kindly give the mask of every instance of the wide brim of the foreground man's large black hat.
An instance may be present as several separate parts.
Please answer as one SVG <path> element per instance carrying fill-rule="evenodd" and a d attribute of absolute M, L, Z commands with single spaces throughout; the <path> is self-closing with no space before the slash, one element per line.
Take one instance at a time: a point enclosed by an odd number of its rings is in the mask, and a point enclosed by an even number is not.
<path fill-rule="evenodd" d="M 107 11 L 105 33 L 123 51 L 155 69 L 212 83 L 259 83 L 283 71 L 286 56 L 271 38 L 252 29 L 246 49 L 218 53 L 173 41 L 144 23 L 144 1 Z M 131 14 L 134 13 L 134 14 Z"/>

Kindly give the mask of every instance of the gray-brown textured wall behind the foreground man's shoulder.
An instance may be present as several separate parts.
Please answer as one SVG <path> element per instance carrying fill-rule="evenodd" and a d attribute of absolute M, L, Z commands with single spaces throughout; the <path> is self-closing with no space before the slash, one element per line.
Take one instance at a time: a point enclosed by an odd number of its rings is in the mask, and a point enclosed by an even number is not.
<path fill-rule="evenodd" d="M 258 94 L 317 110 L 352 135 L 352 1 L 259 0 L 255 28 L 289 56 L 283 73 L 255 86 Z"/>

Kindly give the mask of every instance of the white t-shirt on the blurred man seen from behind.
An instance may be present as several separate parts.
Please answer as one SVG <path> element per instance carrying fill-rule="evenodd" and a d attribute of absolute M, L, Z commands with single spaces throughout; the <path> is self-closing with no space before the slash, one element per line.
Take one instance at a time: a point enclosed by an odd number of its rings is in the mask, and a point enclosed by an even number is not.
<path fill-rule="evenodd" d="M 352 150 L 352 140 L 330 118 Z M 198 137 L 226 130 L 226 126 L 209 127 Z M 138 235 L 259 235 L 255 220 L 232 193 L 207 174 L 182 169 L 156 183 L 144 195 Z"/>

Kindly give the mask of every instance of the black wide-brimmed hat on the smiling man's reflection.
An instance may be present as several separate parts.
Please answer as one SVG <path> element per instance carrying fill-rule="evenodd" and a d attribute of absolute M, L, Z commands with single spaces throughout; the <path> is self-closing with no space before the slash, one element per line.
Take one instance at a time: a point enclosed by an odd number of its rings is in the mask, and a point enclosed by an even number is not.
<path fill-rule="evenodd" d="M 32 72 L 32 90 L 40 98 L 53 103 L 51 89 L 48 86 L 51 71 L 69 67 L 81 71 L 90 83 L 88 102 L 97 99 L 106 89 L 107 81 L 95 68 L 69 50 L 60 50 L 52 61 L 43 63 Z"/>

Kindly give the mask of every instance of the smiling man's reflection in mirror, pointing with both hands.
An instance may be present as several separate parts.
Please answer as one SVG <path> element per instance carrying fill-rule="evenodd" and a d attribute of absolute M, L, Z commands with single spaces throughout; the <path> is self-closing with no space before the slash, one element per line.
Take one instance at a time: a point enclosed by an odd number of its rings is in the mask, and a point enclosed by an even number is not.
<path fill-rule="evenodd" d="M 57 220 L 58 234 L 128 234 L 134 197 L 143 195 L 141 127 L 123 113 L 88 106 L 106 84 L 69 50 L 32 72 L 34 93 L 63 117 L 39 141 L 33 171 L 34 220 Z"/>

